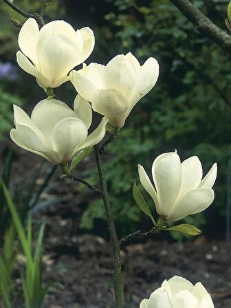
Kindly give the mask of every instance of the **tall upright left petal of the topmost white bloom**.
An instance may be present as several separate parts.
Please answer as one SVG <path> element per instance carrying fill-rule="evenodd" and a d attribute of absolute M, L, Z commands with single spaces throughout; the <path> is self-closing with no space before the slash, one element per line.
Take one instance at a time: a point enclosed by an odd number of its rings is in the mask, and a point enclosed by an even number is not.
<path fill-rule="evenodd" d="M 23 24 L 19 32 L 19 47 L 25 56 L 28 56 L 30 60 L 37 65 L 38 58 L 36 53 L 36 43 L 39 38 L 39 26 L 36 20 L 29 18 Z"/>

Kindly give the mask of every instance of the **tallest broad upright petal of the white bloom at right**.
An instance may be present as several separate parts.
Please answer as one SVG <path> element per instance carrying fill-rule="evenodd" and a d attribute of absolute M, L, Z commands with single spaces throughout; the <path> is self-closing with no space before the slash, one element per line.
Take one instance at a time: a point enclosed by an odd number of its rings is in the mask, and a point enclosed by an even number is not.
<path fill-rule="evenodd" d="M 159 201 L 159 212 L 166 217 L 181 187 L 181 164 L 177 153 L 159 155 L 153 162 L 152 173 Z"/>

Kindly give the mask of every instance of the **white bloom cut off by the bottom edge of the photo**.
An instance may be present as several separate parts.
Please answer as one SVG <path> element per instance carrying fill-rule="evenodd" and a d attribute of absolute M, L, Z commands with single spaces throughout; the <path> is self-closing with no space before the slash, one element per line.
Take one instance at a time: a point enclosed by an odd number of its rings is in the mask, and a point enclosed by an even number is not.
<path fill-rule="evenodd" d="M 192 285 L 185 278 L 175 276 L 164 281 L 140 308 L 214 308 L 212 298 L 201 283 Z"/>

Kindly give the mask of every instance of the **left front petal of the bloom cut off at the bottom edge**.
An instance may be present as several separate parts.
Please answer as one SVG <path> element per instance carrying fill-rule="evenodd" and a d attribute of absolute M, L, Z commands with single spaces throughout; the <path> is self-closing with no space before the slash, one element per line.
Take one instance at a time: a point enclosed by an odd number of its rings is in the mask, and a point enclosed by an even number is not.
<path fill-rule="evenodd" d="M 151 294 L 147 306 L 147 308 L 173 308 L 168 292 L 162 288 L 155 290 Z"/>

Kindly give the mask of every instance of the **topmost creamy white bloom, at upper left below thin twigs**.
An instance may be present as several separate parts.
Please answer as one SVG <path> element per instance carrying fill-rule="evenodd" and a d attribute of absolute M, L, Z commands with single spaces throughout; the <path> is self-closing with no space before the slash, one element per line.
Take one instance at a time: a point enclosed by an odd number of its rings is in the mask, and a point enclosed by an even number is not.
<path fill-rule="evenodd" d="M 30 18 L 19 32 L 17 62 L 43 87 L 55 88 L 69 80 L 69 71 L 89 57 L 94 44 L 89 28 L 75 31 L 65 21 L 52 21 L 39 30 Z"/>

